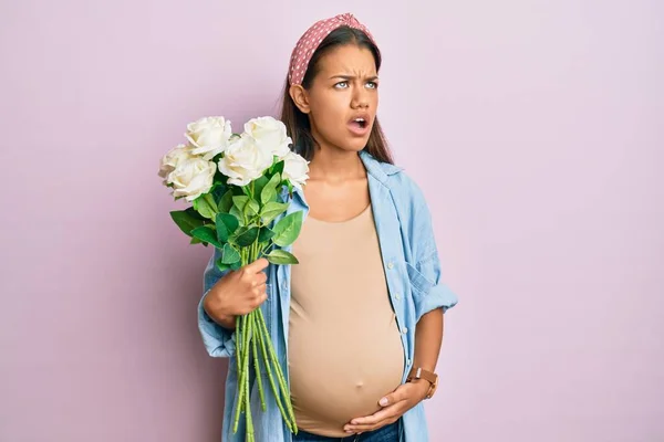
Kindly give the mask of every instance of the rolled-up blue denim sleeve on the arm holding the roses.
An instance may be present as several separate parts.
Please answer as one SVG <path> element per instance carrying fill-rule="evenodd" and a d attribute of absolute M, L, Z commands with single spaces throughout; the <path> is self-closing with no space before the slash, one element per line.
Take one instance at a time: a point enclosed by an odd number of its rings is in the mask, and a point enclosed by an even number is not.
<path fill-rule="evenodd" d="M 220 253 L 215 249 L 210 260 L 203 273 L 203 296 L 198 303 L 198 330 L 203 337 L 203 344 L 207 352 L 215 358 L 227 358 L 235 352 L 235 330 L 230 330 L 215 320 L 203 308 L 205 297 L 210 292 L 210 288 L 224 276 L 228 271 L 221 272 L 215 265 L 220 257 Z"/>

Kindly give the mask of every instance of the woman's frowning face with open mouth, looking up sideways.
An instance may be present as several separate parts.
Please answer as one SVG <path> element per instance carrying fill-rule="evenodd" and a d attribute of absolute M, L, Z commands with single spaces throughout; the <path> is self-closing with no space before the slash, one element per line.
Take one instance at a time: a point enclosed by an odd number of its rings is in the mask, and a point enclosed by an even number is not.
<path fill-rule="evenodd" d="M 313 137 L 322 148 L 362 150 L 378 105 L 371 51 L 354 44 L 339 46 L 323 55 L 318 67 L 311 87 L 301 90 L 295 99 L 300 110 L 309 114 Z"/>

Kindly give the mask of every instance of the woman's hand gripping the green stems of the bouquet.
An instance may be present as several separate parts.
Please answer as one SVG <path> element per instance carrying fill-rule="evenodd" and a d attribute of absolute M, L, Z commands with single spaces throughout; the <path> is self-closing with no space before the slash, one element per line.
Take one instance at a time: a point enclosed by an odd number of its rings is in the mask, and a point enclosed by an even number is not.
<path fill-rule="evenodd" d="M 210 288 L 203 308 L 216 323 L 235 328 L 236 316 L 253 312 L 268 298 L 268 275 L 263 272 L 268 265 L 269 261 L 261 257 L 237 271 L 227 272 Z"/>

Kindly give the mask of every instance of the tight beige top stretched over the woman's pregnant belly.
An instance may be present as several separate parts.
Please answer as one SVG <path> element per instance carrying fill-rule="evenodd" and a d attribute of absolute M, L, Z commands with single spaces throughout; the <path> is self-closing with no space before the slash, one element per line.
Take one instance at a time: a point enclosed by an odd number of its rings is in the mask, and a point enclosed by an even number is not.
<path fill-rule="evenodd" d="M 289 370 L 298 428 L 345 436 L 402 380 L 404 352 L 371 204 L 343 222 L 305 218 L 293 243 Z"/>

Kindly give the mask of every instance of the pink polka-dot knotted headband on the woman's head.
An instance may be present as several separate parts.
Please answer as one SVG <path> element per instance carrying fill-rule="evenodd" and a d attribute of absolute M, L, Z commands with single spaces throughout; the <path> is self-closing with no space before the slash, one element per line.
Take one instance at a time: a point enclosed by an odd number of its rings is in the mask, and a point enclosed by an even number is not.
<path fill-rule="evenodd" d="M 369 36 L 369 39 L 376 44 L 366 27 L 360 23 L 351 13 L 344 13 L 331 19 L 320 20 L 309 28 L 307 32 L 304 32 L 293 49 L 290 66 L 288 69 L 288 78 L 291 85 L 302 84 L 302 80 L 307 73 L 307 67 L 309 66 L 311 56 L 318 49 L 319 44 L 321 44 L 321 42 L 330 34 L 330 32 L 341 27 L 357 29 L 364 32 L 366 36 Z"/>

